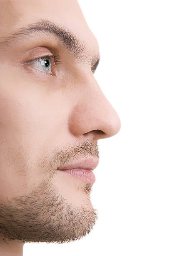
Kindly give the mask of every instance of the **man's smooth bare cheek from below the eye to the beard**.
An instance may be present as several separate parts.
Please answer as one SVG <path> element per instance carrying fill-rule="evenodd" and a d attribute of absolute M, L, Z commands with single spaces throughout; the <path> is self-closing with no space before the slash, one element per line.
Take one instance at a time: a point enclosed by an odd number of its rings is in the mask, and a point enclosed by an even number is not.
<path fill-rule="evenodd" d="M 14 88 L 5 81 L 0 88 L 0 201 L 34 190 L 47 178 L 40 163 L 49 151 L 65 145 L 69 104 L 61 93 Z M 11 82 L 11 81 L 10 81 Z M 24 84 L 25 85 L 25 84 Z"/>

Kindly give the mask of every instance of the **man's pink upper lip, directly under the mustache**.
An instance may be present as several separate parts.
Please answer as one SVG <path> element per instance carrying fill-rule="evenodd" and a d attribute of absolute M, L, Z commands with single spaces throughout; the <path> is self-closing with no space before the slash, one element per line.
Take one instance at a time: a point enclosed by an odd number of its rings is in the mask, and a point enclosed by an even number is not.
<path fill-rule="evenodd" d="M 99 163 L 99 159 L 96 157 L 90 157 L 87 159 L 82 159 L 70 164 L 66 164 L 63 166 L 59 166 L 57 170 L 68 170 L 68 169 L 85 169 L 85 170 L 93 170 L 97 167 Z"/>

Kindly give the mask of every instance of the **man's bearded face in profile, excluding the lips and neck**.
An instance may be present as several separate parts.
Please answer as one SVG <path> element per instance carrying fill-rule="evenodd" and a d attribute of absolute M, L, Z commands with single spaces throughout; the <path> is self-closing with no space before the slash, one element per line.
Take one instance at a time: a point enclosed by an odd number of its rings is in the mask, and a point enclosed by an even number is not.
<path fill-rule="evenodd" d="M 74 241 L 97 220 L 94 181 L 57 168 L 98 159 L 97 140 L 120 130 L 93 76 L 97 40 L 75 0 L 1 0 L 0 10 L 0 233 Z"/>

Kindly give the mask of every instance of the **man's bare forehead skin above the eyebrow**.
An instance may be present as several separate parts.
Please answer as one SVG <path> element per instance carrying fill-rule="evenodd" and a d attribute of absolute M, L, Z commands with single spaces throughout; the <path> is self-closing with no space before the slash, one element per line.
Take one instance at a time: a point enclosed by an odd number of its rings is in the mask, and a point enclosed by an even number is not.
<path fill-rule="evenodd" d="M 0 37 L 47 19 L 68 28 L 91 51 L 99 52 L 97 40 L 76 0 L 1 0 L 0 9 Z"/>

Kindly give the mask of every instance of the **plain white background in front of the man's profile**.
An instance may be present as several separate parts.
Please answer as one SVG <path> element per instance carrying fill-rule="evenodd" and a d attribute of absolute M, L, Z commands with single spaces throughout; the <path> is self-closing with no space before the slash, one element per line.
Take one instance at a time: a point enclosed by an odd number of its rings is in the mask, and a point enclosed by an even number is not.
<path fill-rule="evenodd" d="M 170 256 L 169 1 L 78 2 L 100 47 L 95 78 L 122 127 L 98 142 L 91 233 L 26 243 L 23 255 Z"/>

